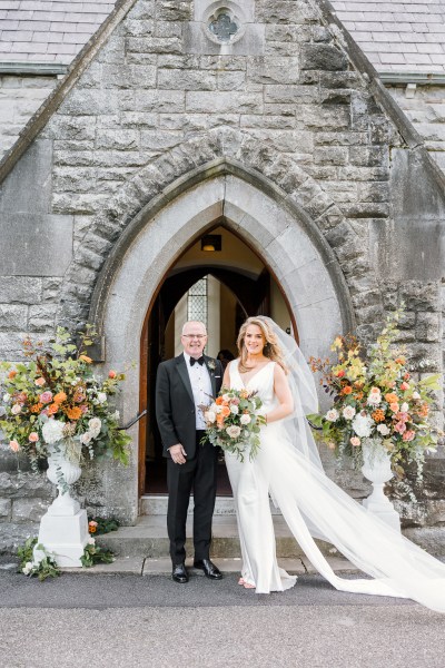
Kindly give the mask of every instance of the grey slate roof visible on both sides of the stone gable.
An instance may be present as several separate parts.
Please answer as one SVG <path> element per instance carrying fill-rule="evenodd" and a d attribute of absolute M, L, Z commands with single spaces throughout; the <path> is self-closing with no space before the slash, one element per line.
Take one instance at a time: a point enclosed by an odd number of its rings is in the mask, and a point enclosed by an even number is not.
<path fill-rule="evenodd" d="M 378 71 L 445 73 L 445 0 L 330 2 Z M 113 7 L 112 0 L 0 0 L 0 61 L 68 65 Z"/>

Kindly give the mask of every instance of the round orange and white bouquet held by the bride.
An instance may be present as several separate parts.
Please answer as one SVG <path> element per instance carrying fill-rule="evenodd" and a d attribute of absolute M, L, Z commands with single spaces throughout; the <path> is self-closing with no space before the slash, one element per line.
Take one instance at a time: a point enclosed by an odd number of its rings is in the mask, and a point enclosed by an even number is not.
<path fill-rule="evenodd" d="M 259 413 L 261 404 L 255 392 L 222 387 L 219 396 L 209 406 L 202 407 L 206 439 L 241 461 L 247 452 L 253 460 L 259 449 L 260 426 L 266 424 L 266 418 Z"/>

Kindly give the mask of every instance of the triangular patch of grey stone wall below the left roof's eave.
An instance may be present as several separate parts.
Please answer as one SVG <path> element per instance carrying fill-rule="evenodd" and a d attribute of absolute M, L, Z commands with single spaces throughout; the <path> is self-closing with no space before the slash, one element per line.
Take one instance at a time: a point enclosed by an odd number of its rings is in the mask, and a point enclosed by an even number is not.
<path fill-rule="evenodd" d="M 56 85 L 51 76 L 0 75 L 0 159 Z"/>

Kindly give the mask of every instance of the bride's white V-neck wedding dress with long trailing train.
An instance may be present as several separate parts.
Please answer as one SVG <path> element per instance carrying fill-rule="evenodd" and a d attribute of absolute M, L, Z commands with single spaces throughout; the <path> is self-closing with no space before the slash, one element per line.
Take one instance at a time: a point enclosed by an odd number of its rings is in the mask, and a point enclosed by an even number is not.
<path fill-rule="evenodd" d="M 246 383 L 238 360 L 230 363 L 230 387 L 257 391 L 263 410 L 277 405 L 275 362 Z M 269 497 L 318 572 L 342 591 L 412 598 L 445 612 L 445 564 L 415 546 L 340 490 L 293 442 L 285 421 L 261 428 L 255 460 L 226 453 L 241 546 L 244 580 L 258 593 L 283 591 L 297 580 L 278 567 Z M 297 438 L 297 433 L 295 434 Z M 373 579 L 337 577 L 314 538 L 333 543 Z"/>

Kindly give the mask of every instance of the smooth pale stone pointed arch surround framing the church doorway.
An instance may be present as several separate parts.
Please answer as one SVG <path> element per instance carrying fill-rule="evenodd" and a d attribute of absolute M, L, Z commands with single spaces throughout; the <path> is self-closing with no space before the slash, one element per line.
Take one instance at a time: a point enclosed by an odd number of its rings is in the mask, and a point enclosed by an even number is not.
<path fill-rule="evenodd" d="M 190 240 L 225 219 L 274 272 L 296 318 L 306 354 L 326 353 L 335 334 L 354 327 L 346 283 L 318 228 L 264 177 L 218 160 L 182 178 L 175 197 L 150 203 L 127 227 L 96 285 L 90 322 L 106 341 L 107 366 L 136 361 L 122 395 L 123 421 L 139 405 L 139 341 L 147 308 L 162 277 Z M 177 184 L 178 185 L 178 184 Z M 175 184 L 174 184 L 175 186 Z M 138 430 L 122 472 L 107 468 L 103 494 L 123 521 L 138 511 Z M 110 492 L 108 493 L 108 490 Z M 110 497 L 110 498 L 108 498 Z"/>

